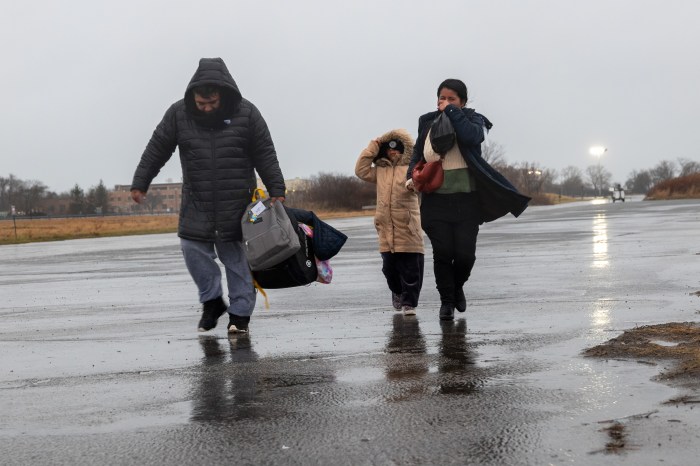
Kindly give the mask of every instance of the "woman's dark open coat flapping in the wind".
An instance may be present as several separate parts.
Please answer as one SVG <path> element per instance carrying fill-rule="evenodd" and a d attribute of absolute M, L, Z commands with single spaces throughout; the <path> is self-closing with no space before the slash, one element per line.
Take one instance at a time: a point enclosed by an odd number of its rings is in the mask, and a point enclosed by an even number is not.
<path fill-rule="evenodd" d="M 445 107 L 445 114 L 452 122 L 457 136 L 457 144 L 469 171 L 476 180 L 476 195 L 479 200 L 482 222 L 491 222 L 507 213 L 518 217 L 527 208 L 530 198 L 520 194 L 517 189 L 496 169 L 481 157 L 481 143 L 484 141 L 484 128 L 491 129 L 491 122 L 471 108 L 459 108 L 455 105 Z M 431 123 L 440 112 L 430 112 L 418 119 L 418 140 L 413 148 L 413 156 L 405 174 L 411 178 L 413 167 L 423 157 L 423 148 Z M 428 194 L 430 195 L 430 194 Z"/>

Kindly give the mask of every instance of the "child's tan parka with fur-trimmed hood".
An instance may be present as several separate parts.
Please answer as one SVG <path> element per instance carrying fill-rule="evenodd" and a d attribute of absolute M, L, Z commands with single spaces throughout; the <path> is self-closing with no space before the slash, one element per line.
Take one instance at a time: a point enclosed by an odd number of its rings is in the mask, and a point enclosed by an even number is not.
<path fill-rule="evenodd" d="M 403 154 L 395 160 L 377 158 L 382 143 L 398 139 Z M 418 195 L 406 189 L 406 168 L 413 153 L 413 138 L 405 129 L 395 129 L 370 141 L 355 164 L 355 174 L 377 185 L 374 226 L 379 235 L 379 252 L 424 253 Z M 375 161 L 376 159 L 376 161 Z"/>

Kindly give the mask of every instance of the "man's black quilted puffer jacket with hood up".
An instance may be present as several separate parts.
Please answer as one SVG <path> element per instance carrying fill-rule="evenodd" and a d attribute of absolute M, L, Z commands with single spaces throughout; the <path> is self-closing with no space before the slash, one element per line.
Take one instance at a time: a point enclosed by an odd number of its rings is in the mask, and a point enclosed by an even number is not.
<path fill-rule="evenodd" d="M 193 89 L 221 88 L 220 107 L 203 114 Z M 267 124 L 241 96 L 221 58 L 202 58 L 187 85 L 153 132 L 136 168 L 131 189 L 148 190 L 175 148 L 182 166 L 178 236 L 195 241 L 240 241 L 241 217 L 251 202 L 258 172 L 270 197 L 285 194 L 284 178 Z"/>

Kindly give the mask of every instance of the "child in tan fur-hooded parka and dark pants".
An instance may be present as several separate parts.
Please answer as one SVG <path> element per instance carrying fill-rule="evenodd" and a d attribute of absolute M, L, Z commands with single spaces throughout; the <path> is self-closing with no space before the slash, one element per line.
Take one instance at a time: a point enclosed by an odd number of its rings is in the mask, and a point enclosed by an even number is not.
<path fill-rule="evenodd" d="M 377 184 L 374 226 L 379 235 L 382 272 L 391 290 L 392 305 L 415 315 L 423 286 L 423 230 L 418 194 L 406 186 L 406 171 L 414 141 L 408 131 L 395 129 L 370 141 L 355 164 L 355 174 Z"/>

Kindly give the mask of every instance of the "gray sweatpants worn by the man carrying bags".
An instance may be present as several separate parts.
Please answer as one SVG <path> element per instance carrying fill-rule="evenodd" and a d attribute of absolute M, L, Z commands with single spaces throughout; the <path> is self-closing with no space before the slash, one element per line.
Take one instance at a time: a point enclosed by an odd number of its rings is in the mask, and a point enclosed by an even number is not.
<path fill-rule="evenodd" d="M 180 238 L 182 255 L 187 270 L 199 289 L 199 302 L 203 303 L 223 295 L 221 268 L 217 257 L 226 269 L 229 314 L 250 316 L 255 308 L 255 287 L 248 260 L 240 241 L 192 241 Z"/>

